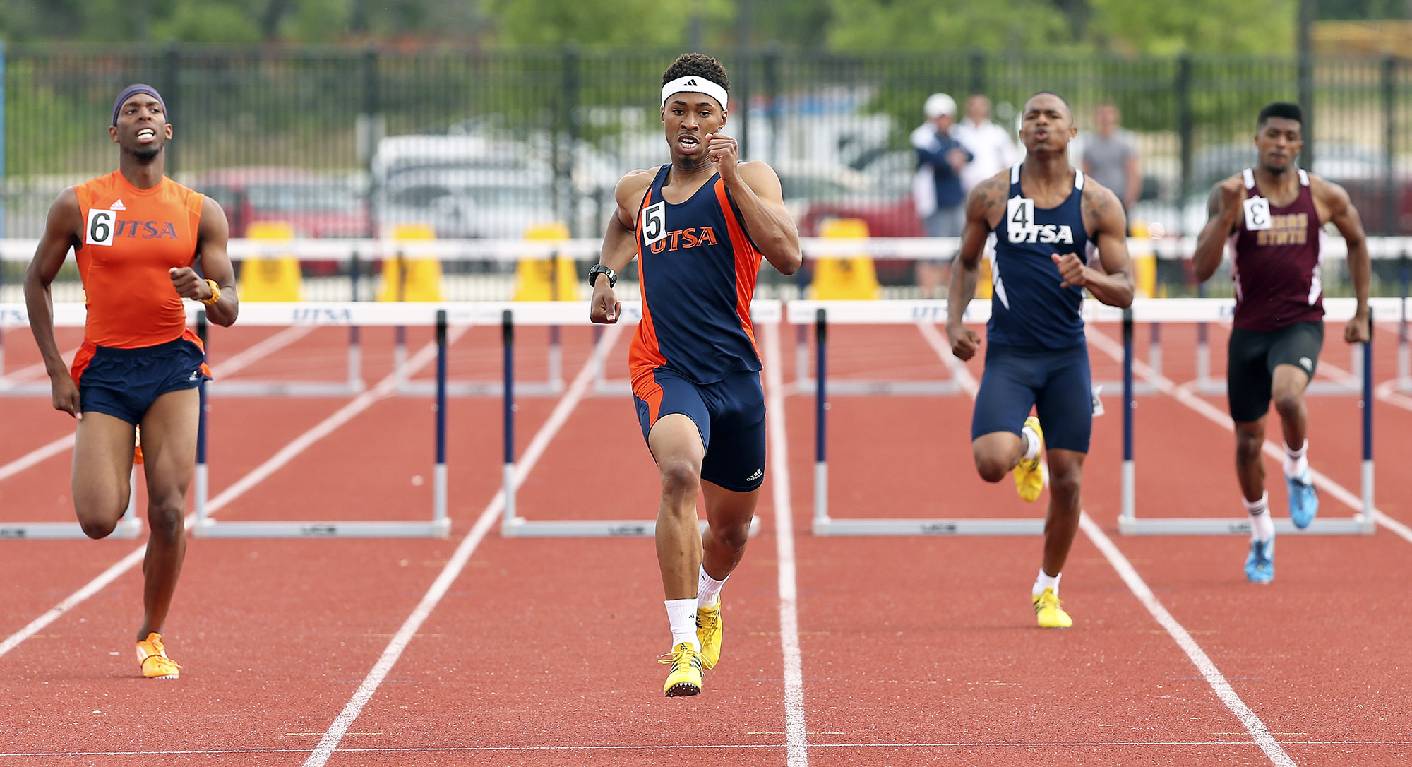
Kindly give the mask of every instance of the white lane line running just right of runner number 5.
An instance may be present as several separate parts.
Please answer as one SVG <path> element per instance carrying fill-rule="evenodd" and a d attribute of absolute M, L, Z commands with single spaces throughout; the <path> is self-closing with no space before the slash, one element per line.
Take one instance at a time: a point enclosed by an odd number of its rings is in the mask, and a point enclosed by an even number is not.
<path fill-rule="evenodd" d="M 799 589 L 794 549 L 794 513 L 789 497 L 789 434 L 785 428 L 784 364 L 779 325 L 765 326 L 765 383 L 770 390 L 770 470 L 775 504 L 775 552 L 779 559 L 779 650 L 785 675 L 785 751 L 788 767 L 809 763 L 805 729 L 803 660 L 799 650 Z"/>

